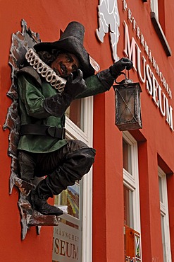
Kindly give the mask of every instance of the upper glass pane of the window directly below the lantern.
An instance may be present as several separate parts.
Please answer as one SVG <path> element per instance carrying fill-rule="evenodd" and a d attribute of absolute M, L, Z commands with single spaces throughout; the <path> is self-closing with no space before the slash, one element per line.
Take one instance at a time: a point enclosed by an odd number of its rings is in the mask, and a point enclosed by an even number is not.
<path fill-rule="evenodd" d="M 132 173 L 131 166 L 131 146 L 123 139 L 123 168 L 128 171 L 130 174 Z"/>

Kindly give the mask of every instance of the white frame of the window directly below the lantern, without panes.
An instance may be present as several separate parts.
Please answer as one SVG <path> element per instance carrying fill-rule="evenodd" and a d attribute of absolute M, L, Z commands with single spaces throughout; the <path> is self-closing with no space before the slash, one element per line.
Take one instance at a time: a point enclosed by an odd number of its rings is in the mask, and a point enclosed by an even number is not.
<path fill-rule="evenodd" d="M 123 132 L 123 139 L 130 144 L 132 164 L 132 174 L 123 168 L 123 183 L 132 191 L 133 229 L 141 234 L 137 141 L 128 131 Z"/>

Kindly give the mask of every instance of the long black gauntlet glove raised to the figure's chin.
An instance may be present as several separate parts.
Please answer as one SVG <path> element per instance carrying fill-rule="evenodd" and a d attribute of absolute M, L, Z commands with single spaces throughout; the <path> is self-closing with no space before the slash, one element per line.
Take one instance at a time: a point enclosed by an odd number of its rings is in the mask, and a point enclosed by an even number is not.
<path fill-rule="evenodd" d="M 85 80 L 82 78 L 82 71 L 77 69 L 77 77 L 73 79 L 73 74 L 68 76 L 65 89 L 62 93 L 45 98 L 44 109 L 50 115 L 61 117 L 75 96 L 82 93 L 86 88 Z"/>

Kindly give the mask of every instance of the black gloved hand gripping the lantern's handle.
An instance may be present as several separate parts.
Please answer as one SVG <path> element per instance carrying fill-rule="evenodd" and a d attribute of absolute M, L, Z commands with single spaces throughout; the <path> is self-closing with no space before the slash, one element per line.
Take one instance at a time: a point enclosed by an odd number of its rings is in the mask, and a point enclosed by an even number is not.
<path fill-rule="evenodd" d="M 130 70 L 133 67 L 132 61 L 130 59 L 123 57 L 120 60 L 118 60 L 115 64 L 111 65 L 109 67 L 109 72 L 111 76 L 113 76 L 114 79 L 116 79 L 118 76 L 120 76 L 120 72 L 122 72 L 125 68 L 126 70 Z"/>

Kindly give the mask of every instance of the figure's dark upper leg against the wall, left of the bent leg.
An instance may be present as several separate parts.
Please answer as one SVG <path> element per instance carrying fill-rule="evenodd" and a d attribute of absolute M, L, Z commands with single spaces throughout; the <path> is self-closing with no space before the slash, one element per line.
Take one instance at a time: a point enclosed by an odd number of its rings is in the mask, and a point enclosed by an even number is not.
<path fill-rule="evenodd" d="M 35 156 L 30 152 L 20 150 L 18 152 L 18 166 L 20 169 L 20 178 L 33 183 L 36 166 Z"/>

